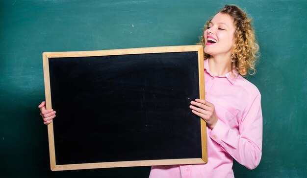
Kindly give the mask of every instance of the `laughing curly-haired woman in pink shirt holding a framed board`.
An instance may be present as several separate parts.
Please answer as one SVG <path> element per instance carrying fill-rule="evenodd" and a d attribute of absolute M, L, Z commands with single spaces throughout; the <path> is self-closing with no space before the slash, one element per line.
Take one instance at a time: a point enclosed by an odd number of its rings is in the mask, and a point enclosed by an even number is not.
<path fill-rule="evenodd" d="M 208 162 L 152 166 L 150 178 L 233 178 L 233 158 L 249 169 L 260 162 L 262 112 L 258 89 L 242 76 L 255 73 L 258 45 L 251 20 L 237 6 L 226 5 L 205 23 L 205 97 L 191 110 L 207 123 Z M 55 111 L 39 108 L 44 124 Z"/>

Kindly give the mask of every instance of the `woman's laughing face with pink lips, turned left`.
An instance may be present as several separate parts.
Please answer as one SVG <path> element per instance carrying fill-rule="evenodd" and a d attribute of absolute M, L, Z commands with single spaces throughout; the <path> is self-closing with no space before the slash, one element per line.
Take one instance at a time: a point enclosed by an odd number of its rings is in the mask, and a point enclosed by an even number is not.
<path fill-rule="evenodd" d="M 234 32 L 233 19 L 227 14 L 216 14 L 204 32 L 205 53 L 213 57 L 231 57 L 232 46 L 235 43 Z"/>

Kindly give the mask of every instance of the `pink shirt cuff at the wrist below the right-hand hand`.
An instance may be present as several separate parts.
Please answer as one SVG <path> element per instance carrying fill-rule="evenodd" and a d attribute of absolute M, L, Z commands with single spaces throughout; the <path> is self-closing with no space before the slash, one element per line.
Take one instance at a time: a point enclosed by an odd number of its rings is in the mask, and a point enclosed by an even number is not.
<path fill-rule="evenodd" d="M 220 119 L 215 124 L 213 130 L 209 133 L 211 139 L 221 144 L 224 135 L 229 131 L 227 124 L 222 122 Z"/>

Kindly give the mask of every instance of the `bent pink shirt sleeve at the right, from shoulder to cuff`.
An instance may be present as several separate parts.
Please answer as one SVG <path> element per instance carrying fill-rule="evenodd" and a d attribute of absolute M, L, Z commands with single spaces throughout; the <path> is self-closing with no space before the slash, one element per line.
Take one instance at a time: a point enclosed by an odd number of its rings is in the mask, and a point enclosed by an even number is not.
<path fill-rule="evenodd" d="M 252 99 L 243 111 L 239 122 L 239 132 L 221 120 L 209 132 L 211 139 L 221 145 L 236 161 L 248 169 L 255 169 L 261 159 L 262 149 L 262 111 L 260 93 Z"/>

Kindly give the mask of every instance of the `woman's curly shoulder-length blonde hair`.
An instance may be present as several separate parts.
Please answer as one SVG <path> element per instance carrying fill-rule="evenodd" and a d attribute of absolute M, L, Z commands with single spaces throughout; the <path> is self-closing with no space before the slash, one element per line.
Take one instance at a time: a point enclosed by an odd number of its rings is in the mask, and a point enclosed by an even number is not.
<path fill-rule="evenodd" d="M 228 14 L 233 19 L 235 26 L 235 43 L 232 48 L 231 70 L 236 69 L 240 75 L 254 75 L 256 73 L 255 65 L 259 57 L 259 46 L 255 39 L 255 32 L 252 27 L 252 19 L 236 5 L 225 5 L 219 13 Z M 212 18 L 205 23 L 203 35 L 200 36 L 198 45 L 205 46 L 204 32 L 207 29 Z M 205 59 L 210 57 L 204 53 Z"/>

